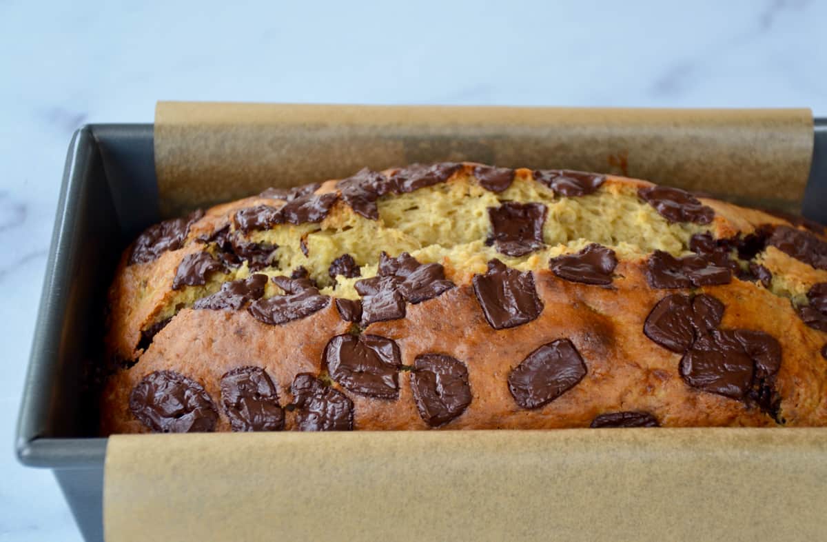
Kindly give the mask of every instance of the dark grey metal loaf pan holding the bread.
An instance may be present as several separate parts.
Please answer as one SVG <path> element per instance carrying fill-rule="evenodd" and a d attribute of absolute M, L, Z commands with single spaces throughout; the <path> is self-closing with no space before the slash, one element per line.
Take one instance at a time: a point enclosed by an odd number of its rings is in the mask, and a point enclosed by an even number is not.
<path fill-rule="evenodd" d="M 160 218 L 153 125 L 92 124 L 69 143 L 29 371 L 17 456 L 50 468 L 86 540 L 103 540 L 103 462 L 90 387 L 101 360 L 106 290 L 118 257 Z M 803 213 L 827 223 L 827 119 L 815 149 Z"/>

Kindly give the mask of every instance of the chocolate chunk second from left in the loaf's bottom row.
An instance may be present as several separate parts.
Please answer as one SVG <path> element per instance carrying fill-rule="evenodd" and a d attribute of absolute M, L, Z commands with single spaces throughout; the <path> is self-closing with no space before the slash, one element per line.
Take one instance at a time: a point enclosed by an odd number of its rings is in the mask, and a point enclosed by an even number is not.
<path fill-rule="evenodd" d="M 221 400 L 233 431 L 280 431 L 279 392 L 261 367 L 237 367 L 221 377 Z"/>

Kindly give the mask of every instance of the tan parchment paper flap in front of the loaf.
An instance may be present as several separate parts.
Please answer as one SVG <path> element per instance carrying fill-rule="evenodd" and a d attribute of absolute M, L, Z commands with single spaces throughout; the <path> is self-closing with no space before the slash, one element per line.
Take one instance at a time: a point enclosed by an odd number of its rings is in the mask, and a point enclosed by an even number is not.
<path fill-rule="evenodd" d="M 111 437 L 108 542 L 824 540 L 827 429 Z"/>

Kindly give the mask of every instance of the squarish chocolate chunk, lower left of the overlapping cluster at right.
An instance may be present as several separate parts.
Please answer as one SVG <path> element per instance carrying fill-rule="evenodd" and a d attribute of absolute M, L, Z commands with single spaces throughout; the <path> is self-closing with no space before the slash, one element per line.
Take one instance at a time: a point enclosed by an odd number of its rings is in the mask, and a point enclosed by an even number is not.
<path fill-rule="evenodd" d="M 753 382 L 755 364 L 732 330 L 710 331 L 681 357 L 678 371 L 692 387 L 743 400 Z"/>

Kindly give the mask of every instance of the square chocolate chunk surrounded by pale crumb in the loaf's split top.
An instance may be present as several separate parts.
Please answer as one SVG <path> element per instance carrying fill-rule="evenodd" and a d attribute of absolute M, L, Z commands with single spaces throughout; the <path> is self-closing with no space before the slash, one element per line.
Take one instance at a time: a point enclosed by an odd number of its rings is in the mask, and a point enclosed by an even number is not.
<path fill-rule="evenodd" d="M 543 247 L 543 223 L 546 206 L 508 202 L 489 207 L 491 239 L 498 252 L 508 256 L 525 256 Z"/>

